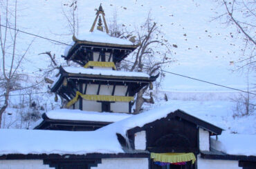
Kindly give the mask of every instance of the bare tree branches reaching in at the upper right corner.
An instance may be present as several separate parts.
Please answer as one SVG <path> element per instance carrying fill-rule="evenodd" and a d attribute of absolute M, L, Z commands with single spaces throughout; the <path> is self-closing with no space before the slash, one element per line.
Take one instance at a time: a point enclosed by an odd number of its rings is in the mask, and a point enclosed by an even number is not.
<path fill-rule="evenodd" d="M 238 70 L 250 68 L 256 71 L 255 31 L 256 31 L 256 1 L 255 0 L 218 0 L 226 12 L 215 19 L 224 19 L 224 23 L 234 25 L 237 33 L 244 37 L 242 57 L 237 61 Z M 233 35 L 231 35 L 233 37 Z"/>

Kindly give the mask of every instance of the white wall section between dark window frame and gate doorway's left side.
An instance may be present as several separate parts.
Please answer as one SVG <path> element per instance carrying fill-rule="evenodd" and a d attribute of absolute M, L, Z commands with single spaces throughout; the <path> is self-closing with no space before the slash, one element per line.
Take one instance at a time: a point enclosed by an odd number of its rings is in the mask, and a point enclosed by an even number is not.
<path fill-rule="evenodd" d="M 116 159 L 102 159 L 102 163 L 98 167 L 91 169 L 148 169 L 149 161 L 147 158 L 116 158 Z"/>

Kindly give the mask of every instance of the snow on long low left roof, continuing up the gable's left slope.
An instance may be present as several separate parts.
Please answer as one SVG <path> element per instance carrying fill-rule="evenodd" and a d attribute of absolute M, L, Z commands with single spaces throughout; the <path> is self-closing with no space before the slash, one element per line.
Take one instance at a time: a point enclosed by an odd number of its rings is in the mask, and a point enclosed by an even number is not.
<path fill-rule="evenodd" d="M 116 133 L 125 136 L 130 128 L 166 117 L 172 108 L 157 108 L 111 123 L 95 131 L 0 130 L 0 155 L 71 154 L 124 152 Z"/>

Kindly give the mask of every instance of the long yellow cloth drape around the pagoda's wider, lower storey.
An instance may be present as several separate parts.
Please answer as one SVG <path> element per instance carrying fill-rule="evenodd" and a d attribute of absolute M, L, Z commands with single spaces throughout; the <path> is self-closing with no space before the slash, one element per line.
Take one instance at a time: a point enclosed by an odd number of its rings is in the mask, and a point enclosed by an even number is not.
<path fill-rule="evenodd" d="M 82 99 L 86 100 L 94 100 L 94 101 L 134 101 L 134 97 L 122 97 L 122 96 L 111 96 L 111 95 L 83 95 L 81 92 L 76 92 L 75 97 L 69 101 L 66 106 L 70 107 L 75 102 L 77 102 L 78 97 L 82 97 Z"/>

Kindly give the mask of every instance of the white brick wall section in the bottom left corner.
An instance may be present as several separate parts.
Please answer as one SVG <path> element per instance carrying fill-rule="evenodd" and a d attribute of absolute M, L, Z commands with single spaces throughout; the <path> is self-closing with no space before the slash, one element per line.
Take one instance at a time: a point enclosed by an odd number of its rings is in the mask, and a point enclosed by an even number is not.
<path fill-rule="evenodd" d="M 43 160 L 0 160 L 1 169 L 53 169 Z"/>

